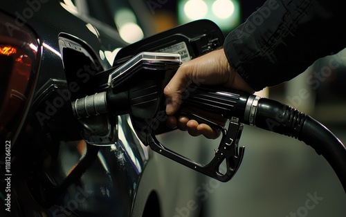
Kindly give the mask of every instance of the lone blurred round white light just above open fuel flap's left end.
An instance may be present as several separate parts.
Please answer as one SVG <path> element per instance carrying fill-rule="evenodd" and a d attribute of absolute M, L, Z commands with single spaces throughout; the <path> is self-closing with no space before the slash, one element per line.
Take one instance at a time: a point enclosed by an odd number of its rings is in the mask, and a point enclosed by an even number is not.
<path fill-rule="evenodd" d="M 134 43 L 144 37 L 142 29 L 136 23 L 125 23 L 119 28 L 119 34 L 127 43 Z"/>

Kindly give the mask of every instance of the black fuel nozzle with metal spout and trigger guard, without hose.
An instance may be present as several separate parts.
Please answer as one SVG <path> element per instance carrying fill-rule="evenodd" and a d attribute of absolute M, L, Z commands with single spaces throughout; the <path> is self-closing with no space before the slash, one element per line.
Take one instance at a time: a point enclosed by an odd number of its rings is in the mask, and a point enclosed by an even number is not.
<path fill-rule="evenodd" d="M 222 134 L 219 147 L 215 150 L 215 157 L 206 165 L 167 149 L 156 139 L 156 135 L 165 132 L 162 129 L 165 128 L 165 120 L 167 119 L 163 89 L 180 65 L 180 55 L 140 53 L 109 75 L 110 88 L 107 91 L 95 93 L 95 95 L 72 102 L 73 113 L 78 118 L 101 113 L 114 115 L 128 113 L 134 130 L 143 144 L 186 167 L 226 182 L 235 175 L 244 155 L 244 147 L 238 147 L 243 128 L 239 118 L 233 118 L 226 129 L 224 126 L 210 122 L 203 117 L 185 114 L 199 120 L 199 122 L 209 124 Z M 206 90 L 197 88 L 196 92 L 193 91 L 192 96 L 195 93 L 205 93 Z M 233 95 L 233 93 L 230 94 Z M 204 95 L 198 95 L 198 97 L 205 98 Z M 229 95 L 223 100 L 227 100 L 228 97 Z M 187 100 L 186 104 L 188 105 L 190 102 L 192 105 L 193 100 L 200 102 L 199 99 L 191 97 L 191 101 Z M 208 97 L 205 100 L 208 100 Z M 215 100 L 217 101 L 217 99 Z M 246 107 L 246 102 L 243 102 L 247 101 L 246 96 L 242 95 L 239 100 L 231 108 L 235 109 L 237 113 L 242 113 L 241 107 Z M 201 102 L 203 103 L 203 100 Z M 241 120 L 243 119 L 241 118 Z M 166 129 L 167 131 L 172 130 L 167 127 Z M 220 167 L 223 162 L 226 162 L 227 169 L 221 172 Z"/>

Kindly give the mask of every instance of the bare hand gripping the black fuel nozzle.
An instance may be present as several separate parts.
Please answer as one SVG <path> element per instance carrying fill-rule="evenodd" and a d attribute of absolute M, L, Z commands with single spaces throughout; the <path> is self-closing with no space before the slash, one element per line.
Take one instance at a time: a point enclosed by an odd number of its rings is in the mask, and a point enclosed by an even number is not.
<path fill-rule="evenodd" d="M 181 93 L 191 83 L 206 85 L 221 85 L 226 88 L 233 88 L 239 91 L 255 93 L 242 77 L 230 67 L 224 49 L 212 51 L 189 62 L 183 63 L 164 90 L 167 99 L 166 113 L 173 115 L 181 105 Z M 183 131 L 188 131 L 190 135 L 204 135 L 206 138 L 217 138 L 215 132 L 207 124 L 199 124 L 196 120 L 189 120 L 188 117 L 170 116 L 167 120 L 168 126 L 178 126 Z"/>

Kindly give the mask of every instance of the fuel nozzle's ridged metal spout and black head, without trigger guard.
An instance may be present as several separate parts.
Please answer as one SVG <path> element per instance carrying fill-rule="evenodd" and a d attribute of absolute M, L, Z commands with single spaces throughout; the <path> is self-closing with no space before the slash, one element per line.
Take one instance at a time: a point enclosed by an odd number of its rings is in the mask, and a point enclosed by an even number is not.
<path fill-rule="evenodd" d="M 160 106 L 163 87 L 181 65 L 179 54 L 143 52 L 109 75 L 109 89 L 72 102 L 75 117 L 110 112 L 150 118 Z"/>

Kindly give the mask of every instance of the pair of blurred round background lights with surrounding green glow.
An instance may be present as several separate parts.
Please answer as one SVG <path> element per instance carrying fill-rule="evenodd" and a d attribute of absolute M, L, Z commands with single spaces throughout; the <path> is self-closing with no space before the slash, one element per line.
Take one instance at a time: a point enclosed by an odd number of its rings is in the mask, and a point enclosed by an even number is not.
<path fill-rule="evenodd" d="M 177 9 L 179 24 L 210 19 L 222 31 L 228 32 L 241 22 L 239 0 L 179 0 Z"/>

